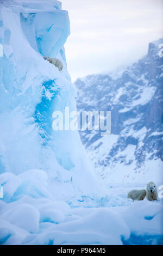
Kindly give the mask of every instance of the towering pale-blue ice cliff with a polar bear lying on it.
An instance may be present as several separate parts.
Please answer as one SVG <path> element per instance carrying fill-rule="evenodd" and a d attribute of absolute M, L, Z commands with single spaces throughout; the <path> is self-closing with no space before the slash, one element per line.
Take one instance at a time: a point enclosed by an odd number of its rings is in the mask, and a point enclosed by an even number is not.
<path fill-rule="evenodd" d="M 76 109 L 64 51 L 67 11 L 55 0 L 1 1 L 0 26 L 0 173 L 42 170 L 48 191 L 61 199 L 96 194 L 78 132 L 52 129 L 55 110 Z M 60 59 L 64 69 L 59 72 L 45 55 Z"/>

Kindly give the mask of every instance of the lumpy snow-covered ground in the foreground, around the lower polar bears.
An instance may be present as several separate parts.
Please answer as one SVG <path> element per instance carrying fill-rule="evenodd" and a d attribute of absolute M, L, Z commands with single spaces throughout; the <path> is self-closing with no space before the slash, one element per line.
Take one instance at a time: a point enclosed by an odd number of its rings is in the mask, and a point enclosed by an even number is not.
<path fill-rule="evenodd" d="M 8 191 L 5 200 L 0 200 L 2 245 L 163 243 L 163 200 L 127 199 L 130 190 L 146 185 L 109 184 L 108 195 L 103 198 L 83 196 L 80 200 L 64 202 L 54 200 L 48 193 L 46 173 L 38 170 L 33 173 L 37 176 L 35 182 L 26 174 L 18 178 L 7 173 L 0 175 L 0 182 L 4 178 L 4 190 Z"/>

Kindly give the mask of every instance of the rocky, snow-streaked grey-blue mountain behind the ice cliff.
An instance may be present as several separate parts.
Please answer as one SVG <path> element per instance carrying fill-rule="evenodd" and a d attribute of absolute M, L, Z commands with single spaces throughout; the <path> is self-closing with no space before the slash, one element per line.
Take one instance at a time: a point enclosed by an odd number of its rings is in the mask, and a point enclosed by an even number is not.
<path fill-rule="evenodd" d="M 80 131 L 106 182 L 163 180 L 162 42 L 151 42 L 145 57 L 118 74 L 89 75 L 75 82 L 79 111 L 111 111 L 108 137 Z"/>

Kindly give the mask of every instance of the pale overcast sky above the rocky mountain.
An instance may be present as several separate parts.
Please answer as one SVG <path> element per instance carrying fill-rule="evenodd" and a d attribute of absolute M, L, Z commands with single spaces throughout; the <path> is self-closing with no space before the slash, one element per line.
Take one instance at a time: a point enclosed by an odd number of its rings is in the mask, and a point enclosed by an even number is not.
<path fill-rule="evenodd" d="M 60 0 L 70 17 L 65 44 L 72 81 L 114 70 L 163 37 L 163 0 Z"/>

